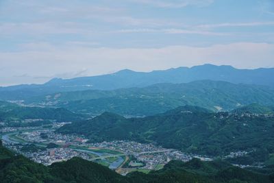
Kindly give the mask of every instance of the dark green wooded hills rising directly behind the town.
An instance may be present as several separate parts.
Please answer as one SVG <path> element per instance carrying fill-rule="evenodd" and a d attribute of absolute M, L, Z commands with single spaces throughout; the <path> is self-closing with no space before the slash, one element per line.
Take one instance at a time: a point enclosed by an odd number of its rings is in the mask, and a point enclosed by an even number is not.
<path fill-rule="evenodd" d="M 64 125 L 58 132 L 84 134 L 92 142 L 156 142 L 163 147 L 209 156 L 251 151 L 251 164 L 264 162 L 274 153 L 274 117 L 214 113 L 192 106 L 131 119 L 105 112 L 89 121 Z"/>

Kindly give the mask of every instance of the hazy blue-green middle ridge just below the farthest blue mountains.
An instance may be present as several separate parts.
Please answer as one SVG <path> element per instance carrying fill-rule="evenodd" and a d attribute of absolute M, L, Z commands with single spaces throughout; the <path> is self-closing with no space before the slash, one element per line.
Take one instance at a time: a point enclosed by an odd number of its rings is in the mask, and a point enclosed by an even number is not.
<path fill-rule="evenodd" d="M 188 84 L 155 84 L 145 88 L 55 93 L 27 102 L 94 115 L 108 111 L 125 116 L 148 116 L 184 105 L 214 111 L 233 110 L 251 103 L 273 106 L 274 92 L 266 86 L 204 80 Z"/>

